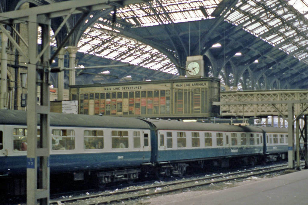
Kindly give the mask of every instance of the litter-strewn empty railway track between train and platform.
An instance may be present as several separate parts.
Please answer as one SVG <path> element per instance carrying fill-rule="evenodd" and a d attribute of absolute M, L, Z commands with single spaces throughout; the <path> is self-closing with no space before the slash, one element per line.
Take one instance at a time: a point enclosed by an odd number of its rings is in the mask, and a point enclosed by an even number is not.
<path fill-rule="evenodd" d="M 51 200 L 50 204 L 87 204 L 98 205 L 108 203 L 118 203 L 131 199 L 139 199 L 152 195 L 165 194 L 192 187 L 201 187 L 209 184 L 222 183 L 235 179 L 249 178 L 256 175 L 268 174 L 287 170 L 287 164 L 271 166 L 268 168 L 249 169 L 232 173 L 203 176 L 195 179 L 176 180 L 167 183 L 152 184 L 149 186 L 131 186 L 125 190 L 113 191 L 109 193 L 88 194 L 81 197 L 72 197 L 59 200 Z M 178 186 L 177 186 L 178 185 Z M 179 186 L 180 185 L 180 186 Z"/>

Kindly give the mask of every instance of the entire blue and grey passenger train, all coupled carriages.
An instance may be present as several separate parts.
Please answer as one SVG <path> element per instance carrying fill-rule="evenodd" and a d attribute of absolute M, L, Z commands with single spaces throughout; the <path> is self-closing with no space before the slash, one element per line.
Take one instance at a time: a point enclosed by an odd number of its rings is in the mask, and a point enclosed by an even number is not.
<path fill-rule="evenodd" d="M 51 178 L 99 186 L 140 174 L 181 176 L 190 165 L 253 165 L 288 152 L 286 128 L 50 113 L 49 134 Z M 25 189 L 27 137 L 26 112 L 0 110 L 0 189 L 14 183 L 14 195 Z"/>

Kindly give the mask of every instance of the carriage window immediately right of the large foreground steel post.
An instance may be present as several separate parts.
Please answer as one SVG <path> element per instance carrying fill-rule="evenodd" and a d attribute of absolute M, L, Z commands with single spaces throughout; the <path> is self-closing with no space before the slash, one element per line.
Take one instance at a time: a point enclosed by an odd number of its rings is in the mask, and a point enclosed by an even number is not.
<path fill-rule="evenodd" d="M 75 149 L 75 130 L 53 129 L 51 131 L 52 150 Z"/>

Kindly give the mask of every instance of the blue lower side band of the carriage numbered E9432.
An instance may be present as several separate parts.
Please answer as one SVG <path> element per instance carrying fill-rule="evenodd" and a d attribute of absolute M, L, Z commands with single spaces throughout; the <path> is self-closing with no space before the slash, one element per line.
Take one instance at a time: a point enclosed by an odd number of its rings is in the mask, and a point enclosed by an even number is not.
<path fill-rule="evenodd" d="M 50 173 L 86 171 L 140 166 L 140 164 L 150 161 L 150 151 L 61 154 L 50 155 L 49 158 Z M 0 157 L 0 173 L 26 174 L 27 162 L 26 156 Z"/>

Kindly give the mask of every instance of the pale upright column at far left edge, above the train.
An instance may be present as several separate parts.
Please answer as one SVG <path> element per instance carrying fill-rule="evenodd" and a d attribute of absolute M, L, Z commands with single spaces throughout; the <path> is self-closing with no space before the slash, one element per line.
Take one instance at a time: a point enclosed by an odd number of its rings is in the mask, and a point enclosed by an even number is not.
<path fill-rule="evenodd" d="M 0 109 L 3 109 L 6 101 L 7 89 L 7 36 L 1 32 L 1 84 L 0 84 Z"/>

